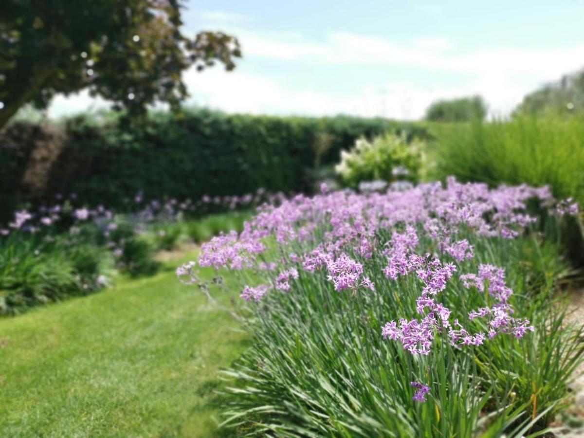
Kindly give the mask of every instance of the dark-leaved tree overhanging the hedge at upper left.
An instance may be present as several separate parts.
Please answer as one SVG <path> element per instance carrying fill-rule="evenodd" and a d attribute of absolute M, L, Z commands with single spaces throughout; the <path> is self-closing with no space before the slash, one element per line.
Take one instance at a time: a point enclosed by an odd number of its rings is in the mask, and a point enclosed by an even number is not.
<path fill-rule="evenodd" d="M 241 57 L 222 32 L 183 34 L 182 0 L 3 0 L 0 2 L 0 128 L 27 103 L 56 93 L 92 96 L 144 114 L 152 102 L 178 109 L 182 72 Z"/>

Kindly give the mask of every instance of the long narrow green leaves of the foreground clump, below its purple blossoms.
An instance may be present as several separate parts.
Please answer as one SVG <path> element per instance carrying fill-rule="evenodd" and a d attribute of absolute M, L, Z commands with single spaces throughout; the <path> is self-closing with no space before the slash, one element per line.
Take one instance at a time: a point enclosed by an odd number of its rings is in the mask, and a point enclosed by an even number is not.
<path fill-rule="evenodd" d="M 476 260 L 463 262 L 461 272 L 474 272 L 479 263 L 505 266 L 512 305 L 536 327 L 533 335 L 498 336 L 464 349 L 437 342 L 430 356 L 412 357 L 384 340 L 380 326 L 419 317 L 409 305 L 419 294 L 415 281 L 388 281 L 381 269 L 372 269 L 375 293 L 346 294 L 334 291 L 324 272 L 300 272 L 294 293 L 267 294 L 254 304 L 254 343 L 228 373 L 239 385 L 231 391 L 225 423 L 238 434 L 279 436 L 545 433 L 584 358 L 582 329 L 564 321 L 561 304 L 551 297 L 565 262 L 551 237 L 464 237 L 475 246 Z M 383 266 L 376 257 L 367 263 Z M 449 286 L 444 298 L 447 307 L 467 311 L 485 300 L 460 284 Z M 439 383 L 442 395 L 412 402 L 410 370 Z"/>

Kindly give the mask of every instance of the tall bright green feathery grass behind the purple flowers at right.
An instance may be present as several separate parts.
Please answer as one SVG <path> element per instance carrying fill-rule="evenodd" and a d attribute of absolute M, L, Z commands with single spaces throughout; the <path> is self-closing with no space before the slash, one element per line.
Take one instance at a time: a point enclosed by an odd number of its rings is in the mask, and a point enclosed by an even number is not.
<path fill-rule="evenodd" d="M 584 119 L 548 114 L 436 127 L 437 176 L 489 185 L 550 185 L 584 202 Z"/>

